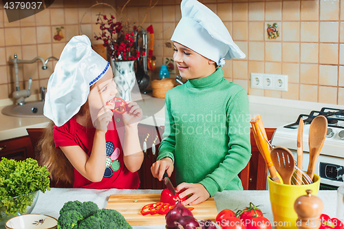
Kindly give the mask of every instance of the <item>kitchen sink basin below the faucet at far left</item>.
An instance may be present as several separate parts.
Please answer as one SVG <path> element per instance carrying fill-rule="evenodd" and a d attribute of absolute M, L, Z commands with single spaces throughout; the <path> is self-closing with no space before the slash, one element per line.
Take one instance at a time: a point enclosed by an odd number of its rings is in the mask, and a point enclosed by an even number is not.
<path fill-rule="evenodd" d="M 15 116 L 23 118 L 42 118 L 43 116 L 43 101 L 26 102 L 25 105 L 10 105 L 4 107 L 1 111 L 6 116 Z"/>

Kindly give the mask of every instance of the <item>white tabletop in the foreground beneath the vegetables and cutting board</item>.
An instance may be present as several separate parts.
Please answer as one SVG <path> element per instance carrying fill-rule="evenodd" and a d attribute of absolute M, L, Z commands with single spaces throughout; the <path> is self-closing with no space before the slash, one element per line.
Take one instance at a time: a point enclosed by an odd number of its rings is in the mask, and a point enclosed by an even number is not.
<path fill-rule="evenodd" d="M 106 208 L 109 195 L 116 194 L 148 194 L 161 193 L 162 190 L 125 190 L 125 189 L 83 189 L 83 188 L 52 188 L 52 190 L 45 193 L 39 193 L 39 199 L 32 213 L 39 213 L 50 215 L 58 219 L 59 210 L 67 201 L 94 201 L 99 208 Z M 335 190 L 320 190 L 318 197 L 321 198 L 324 204 L 323 213 L 336 216 L 336 199 L 337 194 Z M 58 197 L 58 198 L 56 198 Z M 232 191 L 225 190 L 214 195 L 217 212 L 228 208 L 231 210 L 243 209 L 249 206 L 250 202 L 259 205 L 259 208 L 264 212 L 264 216 L 273 221 L 270 197 L 268 190 L 241 190 Z M 200 219 L 198 219 L 200 220 Z M 158 226 L 133 226 L 134 229 L 165 229 L 165 225 Z"/>

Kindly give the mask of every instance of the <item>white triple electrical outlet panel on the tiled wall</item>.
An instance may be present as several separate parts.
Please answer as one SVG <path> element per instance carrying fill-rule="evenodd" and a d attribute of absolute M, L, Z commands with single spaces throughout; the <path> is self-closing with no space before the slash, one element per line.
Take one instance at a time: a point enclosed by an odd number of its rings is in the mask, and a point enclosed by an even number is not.
<path fill-rule="evenodd" d="M 288 91 L 288 75 L 251 73 L 251 88 Z"/>

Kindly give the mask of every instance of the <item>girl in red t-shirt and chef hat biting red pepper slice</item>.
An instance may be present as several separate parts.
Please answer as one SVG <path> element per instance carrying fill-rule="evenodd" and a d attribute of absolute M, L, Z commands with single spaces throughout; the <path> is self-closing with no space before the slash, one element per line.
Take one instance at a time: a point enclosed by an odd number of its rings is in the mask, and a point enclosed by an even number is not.
<path fill-rule="evenodd" d="M 74 36 L 45 97 L 44 115 L 52 121 L 39 143 L 40 159 L 52 179 L 74 182 L 74 188 L 138 188 L 142 109 L 126 102 L 127 111 L 114 115 L 115 105 L 107 101 L 117 92 L 109 63 L 92 50 L 87 36 Z"/>

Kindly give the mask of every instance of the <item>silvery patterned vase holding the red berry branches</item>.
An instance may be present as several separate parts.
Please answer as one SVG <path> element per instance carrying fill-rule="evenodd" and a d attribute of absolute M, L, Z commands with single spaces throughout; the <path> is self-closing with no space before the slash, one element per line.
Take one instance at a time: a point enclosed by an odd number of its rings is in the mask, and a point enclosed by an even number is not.
<path fill-rule="evenodd" d="M 111 58 L 111 62 L 114 81 L 118 89 L 118 97 L 131 101 L 131 91 L 136 82 L 135 61 L 114 61 Z"/>

